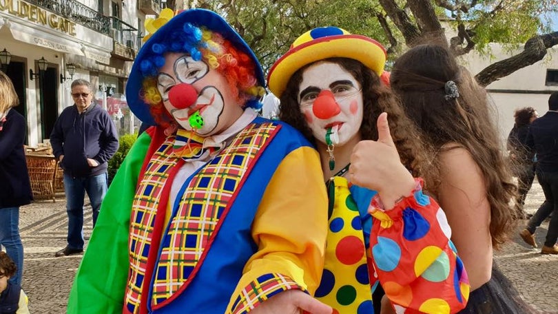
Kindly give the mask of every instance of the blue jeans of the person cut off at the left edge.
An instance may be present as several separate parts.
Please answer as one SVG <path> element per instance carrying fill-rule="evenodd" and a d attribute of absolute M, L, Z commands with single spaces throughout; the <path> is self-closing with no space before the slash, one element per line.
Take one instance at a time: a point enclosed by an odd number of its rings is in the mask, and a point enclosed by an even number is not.
<path fill-rule="evenodd" d="M 19 237 L 19 207 L 0 208 L 0 244 L 17 266 L 17 272 L 10 281 L 21 285 L 23 244 Z"/>

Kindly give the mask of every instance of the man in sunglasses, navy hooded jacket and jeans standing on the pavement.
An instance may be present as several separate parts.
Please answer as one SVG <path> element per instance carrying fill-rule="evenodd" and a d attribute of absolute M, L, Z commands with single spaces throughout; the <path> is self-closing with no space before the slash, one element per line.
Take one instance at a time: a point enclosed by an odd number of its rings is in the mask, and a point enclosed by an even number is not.
<path fill-rule="evenodd" d="M 56 257 L 83 252 L 83 197 L 89 196 L 93 227 L 107 192 L 107 162 L 118 150 L 118 134 L 110 115 L 92 104 L 91 83 L 72 82 L 74 105 L 60 114 L 50 134 L 54 156 L 64 170 L 68 245 Z"/>

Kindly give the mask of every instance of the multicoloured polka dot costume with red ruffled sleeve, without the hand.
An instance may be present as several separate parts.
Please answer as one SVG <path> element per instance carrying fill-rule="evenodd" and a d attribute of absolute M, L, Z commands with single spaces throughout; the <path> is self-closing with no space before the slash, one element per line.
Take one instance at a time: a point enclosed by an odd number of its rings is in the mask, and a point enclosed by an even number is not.
<path fill-rule="evenodd" d="M 335 177 L 334 183 L 318 300 L 332 306 L 333 313 L 373 313 L 371 287 L 378 279 L 396 313 L 449 314 L 464 308 L 469 293 L 466 271 L 449 240 L 444 211 L 422 194 L 421 180 L 411 196 L 389 211 L 377 194 L 360 193 L 366 189 L 355 186 L 349 190 L 342 177 Z M 363 202 L 362 195 L 374 196 Z M 367 209 L 360 208 L 364 204 Z M 362 227 L 369 225 L 362 214 L 366 210 L 373 216 L 370 233 Z M 365 234 L 370 234 L 368 251 Z"/>

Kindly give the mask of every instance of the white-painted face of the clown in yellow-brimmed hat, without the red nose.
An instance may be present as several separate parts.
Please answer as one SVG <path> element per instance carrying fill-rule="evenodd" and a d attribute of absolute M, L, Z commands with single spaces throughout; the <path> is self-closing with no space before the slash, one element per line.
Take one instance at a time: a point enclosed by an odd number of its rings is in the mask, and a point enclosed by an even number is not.
<path fill-rule="evenodd" d="M 300 110 L 312 130 L 313 136 L 325 143 L 329 127 L 338 127 L 339 143 L 342 146 L 349 140 L 360 137 L 362 124 L 362 92 L 361 86 L 351 73 L 340 65 L 329 62 L 318 62 L 309 66 L 302 73 L 299 88 Z M 327 119 L 320 119 L 313 113 L 313 100 L 322 90 L 331 90 L 340 112 Z"/>

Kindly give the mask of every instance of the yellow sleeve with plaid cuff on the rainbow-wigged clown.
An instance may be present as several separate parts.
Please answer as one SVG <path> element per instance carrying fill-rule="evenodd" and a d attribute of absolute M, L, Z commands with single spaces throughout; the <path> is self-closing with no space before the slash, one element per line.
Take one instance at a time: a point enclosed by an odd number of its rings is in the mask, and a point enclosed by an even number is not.
<path fill-rule="evenodd" d="M 318 153 L 301 147 L 280 163 L 252 224 L 258 251 L 247 262 L 227 313 L 247 313 L 289 289 L 312 294 L 324 266 L 327 193 Z"/>

